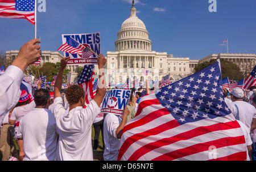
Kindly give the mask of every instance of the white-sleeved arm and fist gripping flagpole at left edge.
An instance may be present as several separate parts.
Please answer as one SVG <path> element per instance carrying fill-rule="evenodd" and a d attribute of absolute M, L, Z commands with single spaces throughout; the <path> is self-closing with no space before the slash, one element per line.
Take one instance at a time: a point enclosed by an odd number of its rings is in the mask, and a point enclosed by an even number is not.
<path fill-rule="evenodd" d="M 0 121 L 19 101 L 24 70 L 40 58 L 40 45 L 36 43 L 40 41 L 33 39 L 24 44 L 11 66 L 0 76 Z"/>

